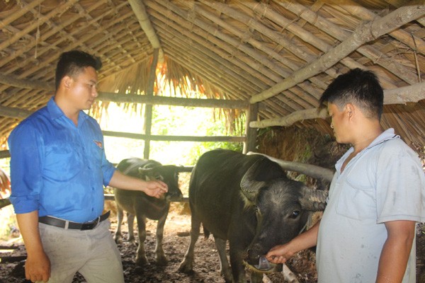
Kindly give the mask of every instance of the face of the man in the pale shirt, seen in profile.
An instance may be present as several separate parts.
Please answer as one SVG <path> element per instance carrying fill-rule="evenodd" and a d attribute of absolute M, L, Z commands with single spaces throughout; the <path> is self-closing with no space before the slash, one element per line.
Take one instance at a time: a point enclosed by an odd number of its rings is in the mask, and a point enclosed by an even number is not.
<path fill-rule="evenodd" d="M 348 144 L 350 129 L 348 127 L 349 113 L 346 106 L 344 106 L 343 110 L 339 110 L 338 106 L 334 103 L 328 103 L 328 112 L 331 117 L 331 128 L 334 129 L 336 142 L 339 144 Z"/>

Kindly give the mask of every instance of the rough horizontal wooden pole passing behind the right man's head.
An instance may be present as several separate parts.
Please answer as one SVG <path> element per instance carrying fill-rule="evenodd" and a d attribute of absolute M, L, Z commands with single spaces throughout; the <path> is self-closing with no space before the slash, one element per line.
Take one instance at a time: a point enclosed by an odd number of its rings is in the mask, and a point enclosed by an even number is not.
<path fill-rule="evenodd" d="M 404 86 L 402 88 L 395 88 L 384 91 L 385 105 L 417 103 L 419 100 L 422 99 L 425 99 L 425 82 L 416 83 L 413 86 Z M 290 125 L 293 125 L 295 122 L 298 121 L 317 118 L 324 119 L 328 116 L 329 115 L 326 109 L 312 108 L 307 110 L 295 111 L 292 112 L 290 115 L 286 115 L 285 117 L 249 122 L 249 127 L 289 127 Z"/>

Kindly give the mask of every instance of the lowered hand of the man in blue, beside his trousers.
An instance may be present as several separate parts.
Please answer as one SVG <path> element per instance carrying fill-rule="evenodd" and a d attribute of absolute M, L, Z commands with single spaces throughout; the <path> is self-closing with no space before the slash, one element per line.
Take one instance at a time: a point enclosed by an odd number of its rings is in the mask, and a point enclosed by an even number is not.
<path fill-rule="evenodd" d="M 25 277 L 31 282 L 47 282 L 50 278 L 50 260 L 44 252 L 28 254 L 25 263 Z"/>

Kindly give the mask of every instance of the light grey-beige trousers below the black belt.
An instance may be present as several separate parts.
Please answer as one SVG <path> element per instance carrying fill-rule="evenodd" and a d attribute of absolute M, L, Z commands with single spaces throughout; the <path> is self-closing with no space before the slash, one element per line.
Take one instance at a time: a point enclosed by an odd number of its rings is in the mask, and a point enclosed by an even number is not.
<path fill-rule="evenodd" d="M 120 252 L 102 221 L 95 229 L 79 231 L 39 224 L 45 253 L 50 259 L 49 283 L 71 283 L 76 272 L 88 283 L 123 283 Z"/>

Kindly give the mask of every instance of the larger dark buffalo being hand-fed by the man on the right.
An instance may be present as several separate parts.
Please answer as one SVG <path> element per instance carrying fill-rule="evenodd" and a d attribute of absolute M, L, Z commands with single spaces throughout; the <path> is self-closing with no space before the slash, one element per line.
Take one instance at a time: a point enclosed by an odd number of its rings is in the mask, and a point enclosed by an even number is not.
<path fill-rule="evenodd" d="M 191 242 L 179 271 L 191 272 L 193 250 L 204 233 L 215 238 L 226 282 L 246 282 L 244 264 L 254 272 L 251 282 L 275 267 L 261 255 L 297 236 L 308 211 L 324 209 L 326 193 L 290 180 L 285 171 L 260 155 L 216 149 L 200 156 L 191 175 L 189 202 Z M 229 241 L 230 264 L 226 256 Z"/>

